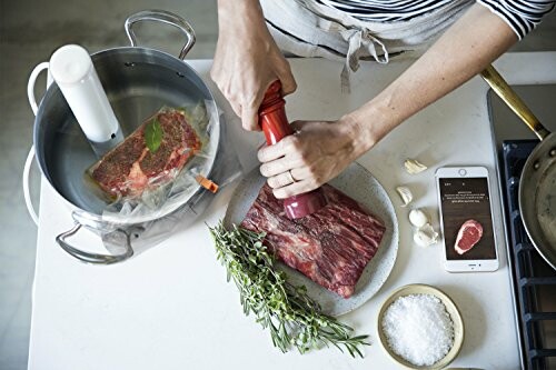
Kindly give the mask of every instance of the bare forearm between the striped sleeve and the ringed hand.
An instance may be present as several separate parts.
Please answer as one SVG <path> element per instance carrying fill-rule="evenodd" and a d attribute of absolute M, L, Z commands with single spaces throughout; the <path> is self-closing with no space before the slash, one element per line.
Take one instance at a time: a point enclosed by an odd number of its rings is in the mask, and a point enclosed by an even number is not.
<path fill-rule="evenodd" d="M 473 6 L 375 99 L 347 114 L 359 156 L 407 118 L 479 73 L 517 37 L 496 14 Z"/>

